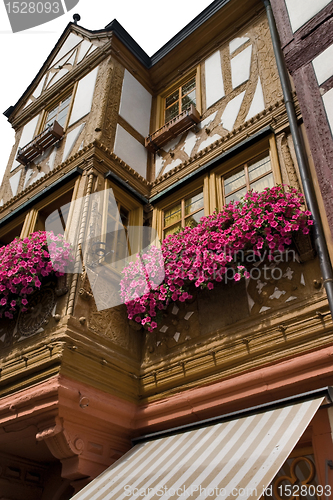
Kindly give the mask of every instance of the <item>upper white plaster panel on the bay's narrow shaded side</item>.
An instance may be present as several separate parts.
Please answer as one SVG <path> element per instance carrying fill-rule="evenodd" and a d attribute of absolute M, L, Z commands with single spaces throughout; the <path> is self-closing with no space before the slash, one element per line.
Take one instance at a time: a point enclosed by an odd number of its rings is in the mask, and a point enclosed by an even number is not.
<path fill-rule="evenodd" d="M 119 114 L 143 137 L 149 134 L 151 94 L 125 69 Z"/>

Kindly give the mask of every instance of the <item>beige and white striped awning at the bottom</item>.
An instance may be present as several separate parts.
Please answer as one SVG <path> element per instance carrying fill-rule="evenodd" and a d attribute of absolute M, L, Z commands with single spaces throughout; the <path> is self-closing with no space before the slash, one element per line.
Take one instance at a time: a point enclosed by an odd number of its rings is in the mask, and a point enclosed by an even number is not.
<path fill-rule="evenodd" d="M 256 500 L 323 399 L 232 417 L 137 444 L 73 500 Z"/>

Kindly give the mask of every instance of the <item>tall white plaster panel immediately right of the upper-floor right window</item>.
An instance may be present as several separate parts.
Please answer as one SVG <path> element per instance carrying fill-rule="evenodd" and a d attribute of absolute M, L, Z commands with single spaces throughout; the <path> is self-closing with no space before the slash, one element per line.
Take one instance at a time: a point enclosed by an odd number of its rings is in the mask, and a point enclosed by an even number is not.
<path fill-rule="evenodd" d="M 224 97 L 221 54 L 217 50 L 205 61 L 206 105 L 207 108 Z"/>

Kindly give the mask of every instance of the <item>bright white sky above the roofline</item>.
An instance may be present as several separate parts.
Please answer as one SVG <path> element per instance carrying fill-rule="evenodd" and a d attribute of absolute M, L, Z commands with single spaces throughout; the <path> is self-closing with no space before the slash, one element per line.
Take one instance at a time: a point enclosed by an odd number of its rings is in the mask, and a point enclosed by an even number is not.
<path fill-rule="evenodd" d="M 117 19 L 136 42 L 154 54 L 170 38 L 200 14 L 212 0 L 80 0 L 68 13 L 46 24 L 12 33 L 5 2 L 0 0 L 0 182 L 14 144 L 15 134 L 3 115 L 16 104 L 37 75 L 73 14 L 80 26 L 103 29 Z"/>

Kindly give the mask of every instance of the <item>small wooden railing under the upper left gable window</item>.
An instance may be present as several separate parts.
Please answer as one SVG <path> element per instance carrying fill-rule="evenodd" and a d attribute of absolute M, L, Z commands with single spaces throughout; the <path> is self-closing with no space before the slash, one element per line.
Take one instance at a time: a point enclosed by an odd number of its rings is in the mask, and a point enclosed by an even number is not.
<path fill-rule="evenodd" d="M 54 121 L 23 148 L 19 148 L 16 160 L 23 165 L 28 165 L 47 148 L 58 142 L 63 135 L 64 129 L 57 121 Z"/>

